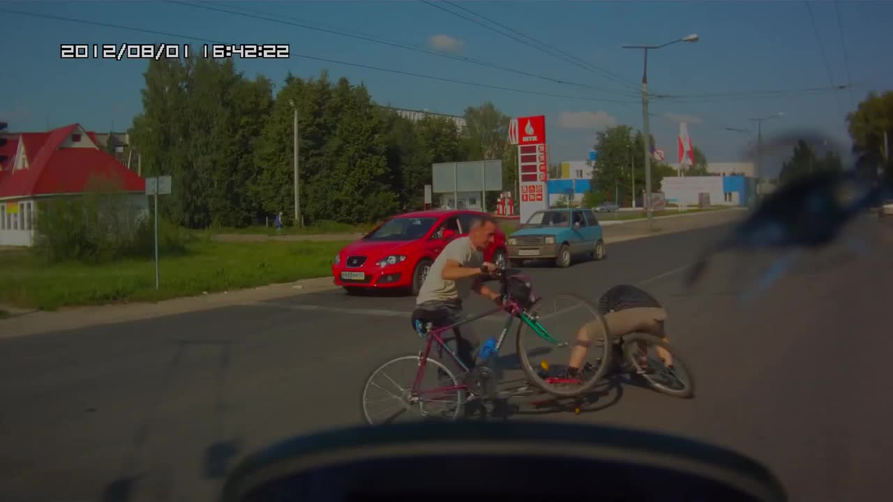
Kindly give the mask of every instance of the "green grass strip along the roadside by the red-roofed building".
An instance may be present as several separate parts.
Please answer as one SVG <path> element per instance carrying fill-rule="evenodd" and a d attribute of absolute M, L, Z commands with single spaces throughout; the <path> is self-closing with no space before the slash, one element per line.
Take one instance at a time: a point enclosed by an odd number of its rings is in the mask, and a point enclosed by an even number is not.
<path fill-rule="evenodd" d="M 160 259 L 161 289 L 155 290 L 154 260 L 109 264 L 47 264 L 38 255 L 4 255 L 0 303 L 54 310 L 65 305 L 157 301 L 203 292 L 251 288 L 324 277 L 346 242 L 190 242 L 184 255 Z"/>

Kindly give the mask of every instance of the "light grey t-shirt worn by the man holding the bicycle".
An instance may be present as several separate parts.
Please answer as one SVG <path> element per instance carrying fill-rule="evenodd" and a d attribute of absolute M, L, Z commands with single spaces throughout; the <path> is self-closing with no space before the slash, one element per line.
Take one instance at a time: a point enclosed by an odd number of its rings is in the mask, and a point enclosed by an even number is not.
<path fill-rule="evenodd" d="M 430 301 L 448 301 L 468 297 L 475 278 L 445 280 L 441 274 L 448 260 L 455 260 L 463 267 L 480 268 L 480 265 L 484 263 L 484 256 L 472 246 L 472 241 L 469 238 L 455 238 L 447 244 L 447 247 L 444 247 L 443 252 L 431 264 L 428 277 L 421 285 L 419 297 L 415 300 L 416 305 Z"/>

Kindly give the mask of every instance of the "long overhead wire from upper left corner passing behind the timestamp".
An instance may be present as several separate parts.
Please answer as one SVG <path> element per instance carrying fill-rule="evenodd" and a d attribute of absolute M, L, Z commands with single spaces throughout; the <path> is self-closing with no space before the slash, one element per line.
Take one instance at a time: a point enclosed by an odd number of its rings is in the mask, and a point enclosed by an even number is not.
<path fill-rule="evenodd" d="M 221 42 L 220 40 L 213 40 L 211 38 L 192 37 L 189 35 L 181 35 L 179 33 L 170 33 L 170 32 L 159 31 L 159 30 L 155 30 L 155 29 L 134 28 L 134 27 L 130 27 L 130 26 L 124 26 L 124 25 L 120 25 L 120 24 L 113 24 L 113 23 L 107 23 L 107 22 L 100 22 L 100 21 L 79 20 L 76 18 L 55 16 L 52 14 L 28 13 L 28 12 L 16 11 L 13 9 L 5 9 L 5 8 L 0 8 L 0 12 L 20 14 L 20 15 L 32 16 L 32 17 L 44 18 L 44 19 L 53 19 L 56 21 L 79 22 L 82 24 L 89 24 L 92 26 L 103 26 L 105 28 L 126 29 L 129 31 L 150 33 L 152 35 L 162 35 L 164 37 L 183 38 L 186 40 L 196 40 L 198 42 L 210 42 L 212 44 L 227 44 L 226 42 Z M 394 69 L 390 69 L 390 68 L 382 68 L 379 66 L 372 66 L 369 64 L 350 63 L 350 62 L 346 62 L 346 61 L 338 61 L 336 59 L 328 59 L 328 58 L 317 57 L 317 56 L 308 55 L 308 54 L 289 53 L 289 56 L 299 57 L 302 59 L 309 59 L 309 60 L 313 60 L 313 61 L 321 61 L 324 63 L 343 64 L 346 66 L 354 66 L 356 68 L 363 68 L 366 70 L 385 71 L 388 73 L 396 73 L 398 75 L 406 75 L 406 76 L 417 77 L 417 78 L 421 78 L 421 79 L 432 79 L 432 80 L 438 80 L 438 81 L 442 81 L 442 82 L 463 84 L 463 85 L 472 86 L 472 87 L 492 88 L 492 89 L 497 89 L 497 90 L 505 90 L 505 91 L 509 91 L 509 92 L 517 92 L 517 93 L 530 94 L 530 95 L 536 95 L 536 96 L 558 97 L 558 98 L 563 98 L 563 99 L 576 99 L 576 100 L 580 100 L 580 101 L 591 101 L 591 102 L 597 102 L 597 103 L 614 103 L 614 104 L 619 104 L 619 105 L 632 105 L 632 104 L 636 103 L 634 101 L 618 101 L 618 100 L 609 100 L 609 99 L 598 99 L 595 97 L 560 95 L 560 94 L 551 94 L 551 93 L 547 93 L 547 92 L 538 92 L 538 91 L 527 90 L 527 89 L 506 88 L 506 87 L 502 87 L 502 86 L 491 86 L 488 84 L 482 84 L 480 82 L 472 82 L 469 80 L 446 79 L 446 78 L 442 78 L 442 77 L 435 77 L 433 75 L 425 75 L 422 73 L 413 73 L 412 71 L 394 70 Z"/>

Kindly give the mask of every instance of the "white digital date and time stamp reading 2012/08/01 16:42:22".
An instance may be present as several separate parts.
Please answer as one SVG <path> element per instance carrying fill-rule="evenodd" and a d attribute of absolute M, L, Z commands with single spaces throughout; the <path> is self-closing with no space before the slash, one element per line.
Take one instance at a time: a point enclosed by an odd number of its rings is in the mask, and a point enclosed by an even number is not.
<path fill-rule="evenodd" d="M 188 44 L 62 44 L 62 59 L 154 59 L 189 57 L 196 51 Z M 204 58 L 288 59 L 289 44 L 203 44 L 197 54 Z"/>

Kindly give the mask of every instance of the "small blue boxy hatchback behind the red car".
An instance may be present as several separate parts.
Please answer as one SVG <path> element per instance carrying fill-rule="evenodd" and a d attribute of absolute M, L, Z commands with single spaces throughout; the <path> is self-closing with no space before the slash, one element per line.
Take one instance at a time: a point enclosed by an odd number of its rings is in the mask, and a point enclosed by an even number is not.
<path fill-rule="evenodd" d="M 547 209 L 530 216 L 522 228 L 506 239 L 509 263 L 551 259 L 565 268 L 574 256 L 605 258 L 602 226 L 591 209 Z"/>

